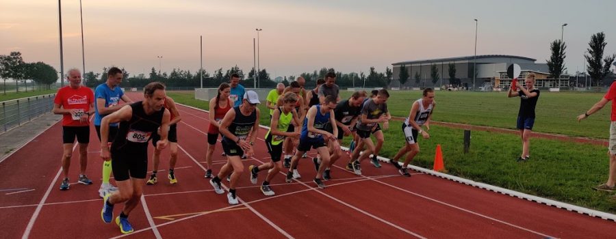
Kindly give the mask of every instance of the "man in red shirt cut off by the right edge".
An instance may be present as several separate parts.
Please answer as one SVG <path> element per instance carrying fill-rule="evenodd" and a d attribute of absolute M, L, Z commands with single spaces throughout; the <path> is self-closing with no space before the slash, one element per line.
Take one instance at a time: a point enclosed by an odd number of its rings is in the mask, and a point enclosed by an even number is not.
<path fill-rule="evenodd" d="M 578 122 L 580 122 L 582 119 L 586 119 L 593 113 L 602 109 L 605 104 L 610 101 L 612 102 L 610 146 L 608 148 L 608 155 L 610 156 L 610 171 L 607 182 L 598 186 L 593 186 L 595 190 L 606 192 L 616 191 L 616 186 L 614 185 L 616 182 L 616 81 L 612 83 L 608 92 L 601 100 L 599 100 L 599 102 L 596 102 L 595 105 L 593 105 L 593 107 L 585 113 L 578 115 Z"/>

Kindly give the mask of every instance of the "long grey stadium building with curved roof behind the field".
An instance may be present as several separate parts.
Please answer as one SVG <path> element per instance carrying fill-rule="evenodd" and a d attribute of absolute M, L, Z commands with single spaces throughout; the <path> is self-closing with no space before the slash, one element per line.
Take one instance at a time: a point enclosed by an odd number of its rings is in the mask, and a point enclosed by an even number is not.
<path fill-rule="evenodd" d="M 511 79 L 507 77 L 507 67 L 510 64 L 518 64 L 522 68 L 519 79 L 530 72 L 535 73 L 536 87 L 569 87 L 569 74 L 563 74 L 560 79 L 550 77 L 548 64 L 535 63 L 537 59 L 519 57 L 515 55 L 477 55 L 469 57 L 450 57 L 441 59 L 424 59 L 416 61 L 402 61 L 394 63 L 393 81 L 389 87 L 402 89 L 413 87 L 446 87 L 454 89 L 472 89 L 473 68 L 476 65 L 475 86 L 482 90 L 507 89 L 511 85 Z M 455 77 L 450 81 L 450 64 L 455 68 Z M 436 67 L 439 74 L 438 80 L 433 83 L 432 68 Z M 407 69 L 409 78 L 404 84 L 400 84 L 400 68 Z"/>

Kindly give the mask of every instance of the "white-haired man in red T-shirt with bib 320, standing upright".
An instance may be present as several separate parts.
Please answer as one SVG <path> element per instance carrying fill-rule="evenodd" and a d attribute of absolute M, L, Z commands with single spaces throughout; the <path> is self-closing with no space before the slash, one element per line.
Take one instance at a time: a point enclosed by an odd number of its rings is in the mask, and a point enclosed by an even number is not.
<path fill-rule="evenodd" d="M 79 183 L 92 184 L 86 176 L 88 143 L 90 143 L 90 114 L 94 113 L 94 92 L 81 85 L 81 72 L 68 70 L 68 85 L 57 90 L 53 100 L 53 113 L 62 115 L 62 173 L 60 190 L 68 190 L 68 168 L 73 154 L 75 137 L 79 143 Z"/>

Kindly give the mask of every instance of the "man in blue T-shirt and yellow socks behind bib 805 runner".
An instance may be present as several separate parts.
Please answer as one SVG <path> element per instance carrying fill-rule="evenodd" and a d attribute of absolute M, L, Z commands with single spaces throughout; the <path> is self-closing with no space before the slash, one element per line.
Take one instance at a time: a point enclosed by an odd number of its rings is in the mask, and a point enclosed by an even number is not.
<path fill-rule="evenodd" d="M 107 71 L 107 82 L 97 86 L 94 90 L 94 128 L 97 130 L 99 140 L 101 139 L 101 119 L 105 115 L 118 111 L 123 106 L 120 105 L 120 100 L 127 104 L 133 101 L 128 98 L 120 88 L 124 75 L 122 70 L 117 67 L 112 67 Z M 118 124 L 112 124 L 109 128 L 109 138 L 115 139 L 118 131 Z M 105 194 L 116 191 L 118 188 L 109 183 L 112 173 L 112 160 L 103 160 L 103 183 L 99 189 L 99 196 L 105 197 Z"/>

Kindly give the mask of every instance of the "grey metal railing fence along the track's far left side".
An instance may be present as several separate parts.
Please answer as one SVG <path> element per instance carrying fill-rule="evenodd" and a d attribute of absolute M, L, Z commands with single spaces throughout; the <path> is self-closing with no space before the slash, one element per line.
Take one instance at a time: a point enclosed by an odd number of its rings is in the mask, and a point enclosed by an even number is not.
<path fill-rule="evenodd" d="M 55 94 L 31 96 L 0 102 L 0 124 L 3 132 L 30 121 L 53 109 Z"/>

